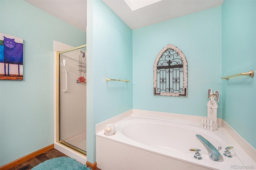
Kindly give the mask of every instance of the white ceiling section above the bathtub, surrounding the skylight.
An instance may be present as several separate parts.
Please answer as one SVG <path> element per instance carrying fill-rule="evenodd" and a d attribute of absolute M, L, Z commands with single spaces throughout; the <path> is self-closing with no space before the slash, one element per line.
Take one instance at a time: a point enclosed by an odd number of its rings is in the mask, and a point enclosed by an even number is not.
<path fill-rule="evenodd" d="M 224 0 L 161 0 L 132 11 L 124 0 L 103 0 L 131 29 L 222 5 Z M 136 0 L 141 1 L 141 0 Z"/>

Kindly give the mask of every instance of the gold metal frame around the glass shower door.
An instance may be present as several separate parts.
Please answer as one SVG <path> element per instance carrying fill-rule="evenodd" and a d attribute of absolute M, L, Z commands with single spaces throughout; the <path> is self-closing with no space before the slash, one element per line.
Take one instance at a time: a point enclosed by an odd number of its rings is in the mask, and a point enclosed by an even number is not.
<path fill-rule="evenodd" d="M 56 81 L 56 134 L 57 134 L 57 142 L 86 156 L 86 152 L 84 150 L 81 150 L 77 147 L 74 147 L 73 145 L 70 145 L 69 143 L 66 143 L 65 141 L 62 141 L 60 139 L 60 54 L 62 53 L 66 53 L 66 52 L 69 52 L 69 51 L 74 51 L 74 50 L 77 50 L 77 49 L 81 49 L 81 48 L 84 48 L 86 47 L 87 45 L 81 45 L 81 46 L 78 46 L 78 47 L 75 47 L 75 48 L 72 48 L 72 49 L 69 49 L 69 50 L 65 50 L 65 51 L 57 51 L 57 59 L 56 59 L 56 78 L 57 78 L 57 81 Z"/>

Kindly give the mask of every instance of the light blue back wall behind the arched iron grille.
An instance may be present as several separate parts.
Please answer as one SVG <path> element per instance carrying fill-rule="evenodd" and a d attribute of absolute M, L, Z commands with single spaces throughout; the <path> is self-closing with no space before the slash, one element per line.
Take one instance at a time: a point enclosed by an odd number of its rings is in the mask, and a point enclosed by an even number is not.
<path fill-rule="evenodd" d="M 154 96 L 158 53 L 175 45 L 188 62 L 188 97 Z M 133 108 L 207 115 L 207 90 L 221 86 L 221 6 L 133 30 Z M 218 117 L 222 117 L 222 100 Z"/>

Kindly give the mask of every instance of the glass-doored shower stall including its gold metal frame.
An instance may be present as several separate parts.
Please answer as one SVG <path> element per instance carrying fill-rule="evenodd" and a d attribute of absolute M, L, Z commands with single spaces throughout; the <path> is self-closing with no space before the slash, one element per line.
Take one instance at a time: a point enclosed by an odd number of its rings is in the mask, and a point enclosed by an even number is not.
<path fill-rule="evenodd" d="M 86 45 L 57 52 L 57 142 L 86 156 Z"/>

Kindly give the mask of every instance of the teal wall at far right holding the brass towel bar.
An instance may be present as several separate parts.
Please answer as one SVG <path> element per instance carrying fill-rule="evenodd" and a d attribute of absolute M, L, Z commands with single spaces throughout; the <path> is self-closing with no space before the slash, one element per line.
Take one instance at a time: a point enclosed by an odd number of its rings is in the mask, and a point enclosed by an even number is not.
<path fill-rule="evenodd" d="M 256 1 L 222 4 L 222 76 L 256 71 Z M 256 78 L 222 80 L 222 119 L 256 148 Z"/>

